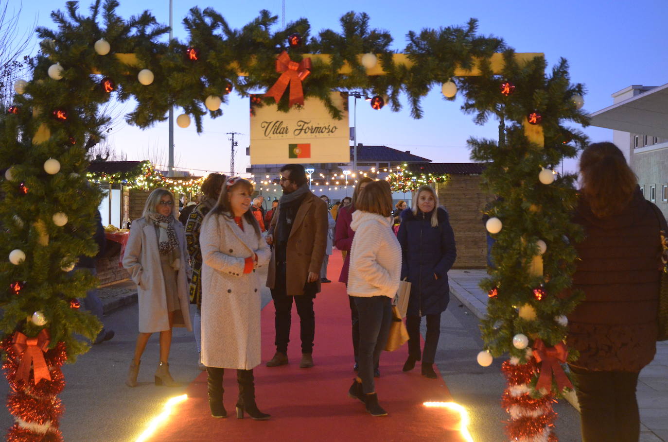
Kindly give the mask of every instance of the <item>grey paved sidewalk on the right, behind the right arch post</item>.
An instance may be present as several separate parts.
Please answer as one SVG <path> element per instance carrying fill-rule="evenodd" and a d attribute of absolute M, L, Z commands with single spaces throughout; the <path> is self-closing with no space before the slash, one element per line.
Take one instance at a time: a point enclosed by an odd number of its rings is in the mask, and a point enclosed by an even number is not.
<path fill-rule="evenodd" d="M 485 270 L 450 270 L 450 292 L 478 318 L 487 310 L 487 294 L 478 282 Z M 640 373 L 637 388 L 640 408 L 641 442 L 668 442 L 668 342 L 657 343 L 657 355 Z M 567 398 L 578 408 L 577 401 Z"/>

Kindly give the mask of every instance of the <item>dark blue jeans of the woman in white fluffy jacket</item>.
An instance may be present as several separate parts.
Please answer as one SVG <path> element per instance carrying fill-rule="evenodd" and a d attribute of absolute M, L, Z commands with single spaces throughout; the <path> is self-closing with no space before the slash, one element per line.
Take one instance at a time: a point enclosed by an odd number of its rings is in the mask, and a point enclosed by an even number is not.
<path fill-rule="evenodd" d="M 392 302 L 387 296 L 353 296 L 359 314 L 359 379 L 365 394 L 375 393 L 373 367 L 378 366 L 392 324 Z"/>

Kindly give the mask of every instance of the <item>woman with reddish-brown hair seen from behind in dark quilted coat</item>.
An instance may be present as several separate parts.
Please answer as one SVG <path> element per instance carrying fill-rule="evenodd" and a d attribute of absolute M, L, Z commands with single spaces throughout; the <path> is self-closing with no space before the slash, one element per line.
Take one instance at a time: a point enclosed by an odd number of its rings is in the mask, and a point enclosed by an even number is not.
<path fill-rule="evenodd" d="M 585 229 L 574 290 L 584 302 L 568 315 L 570 364 L 584 442 L 637 442 L 638 374 L 654 358 L 665 218 L 645 200 L 635 174 L 612 143 L 580 158 L 582 189 L 573 221 Z M 665 227 L 664 227 L 665 228 Z"/>

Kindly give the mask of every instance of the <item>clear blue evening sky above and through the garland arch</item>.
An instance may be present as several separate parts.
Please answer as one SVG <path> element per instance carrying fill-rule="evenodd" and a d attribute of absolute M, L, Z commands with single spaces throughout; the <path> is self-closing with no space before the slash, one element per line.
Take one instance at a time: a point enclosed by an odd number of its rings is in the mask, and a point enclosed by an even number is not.
<path fill-rule="evenodd" d="M 9 0 L 10 8 L 17 0 Z M 130 17 L 150 9 L 161 23 L 169 22 L 168 0 L 132 2 L 120 0 L 118 12 Z M 181 20 L 193 6 L 213 7 L 226 17 L 232 27 L 242 27 L 257 16 L 261 9 L 281 14 L 281 0 L 206 3 L 193 0 L 174 0 L 174 35 L 186 38 Z M 665 0 L 562 0 L 552 1 L 349 1 L 334 2 L 286 0 L 286 22 L 306 17 L 313 33 L 321 29 L 339 31 L 339 17 L 347 11 L 366 12 L 371 27 L 387 29 L 394 37 L 393 49 L 405 47 L 405 34 L 425 27 L 462 25 L 475 17 L 480 21 L 479 32 L 502 37 L 518 52 L 542 52 L 553 65 L 559 57 L 570 63 L 571 79 L 585 83 L 585 109 L 588 112 L 612 104 L 611 93 L 632 84 L 661 85 L 668 82 L 668 5 Z M 88 10 L 90 3 L 81 2 Z M 23 2 L 21 25 L 53 27 L 49 13 L 64 9 L 65 1 L 33 0 Z M 280 19 L 279 19 L 280 24 Z M 36 46 L 35 46 L 36 48 Z M 112 48 L 112 51 L 114 49 Z M 405 105 L 405 101 L 403 101 Z M 399 150 L 424 156 L 434 162 L 468 162 L 466 140 L 470 136 L 496 138 L 496 122 L 476 126 L 471 116 L 460 111 L 461 101 L 444 101 L 440 87 L 424 99 L 425 116 L 413 120 L 407 107 L 401 112 L 384 108 L 371 109 L 358 101 L 357 136 L 363 144 L 384 144 Z M 248 157 L 245 147 L 249 140 L 248 103 L 234 95 L 223 108 L 224 115 L 207 120 L 204 133 L 197 135 L 194 127 L 181 129 L 175 125 L 176 164 L 195 170 L 229 170 L 230 142 L 225 132 L 241 132 L 240 152 L 236 155 L 236 170 L 245 170 Z M 175 114 L 180 114 L 176 109 Z M 352 118 L 352 114 L 351 114 Z M 352 123 L 351 123 L 352 126 Z M 587 128 L 593 141 L 612 140 L 612 131 Z M 143 160 L 148 149 L 166 151 L 167 124 L 148 130 L 138 130 L 124 123 L 117 124 L 110 136 L 117 151 L 124 151 L 129 160 Z M 164 156 L 166 159 L 166 154 Z M 566 163 L 574 170 L 575 162 Z"/>

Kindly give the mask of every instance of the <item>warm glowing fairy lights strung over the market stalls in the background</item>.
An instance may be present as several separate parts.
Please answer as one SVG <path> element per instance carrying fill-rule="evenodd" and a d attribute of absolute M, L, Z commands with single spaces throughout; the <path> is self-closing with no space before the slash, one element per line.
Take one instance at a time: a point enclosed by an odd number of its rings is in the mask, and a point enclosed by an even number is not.
<path fill-rule="evenodd" d="M 174 194 L 198 194 L 202 188 L 202 182 L 206 176 L 169 178 L 164 176 L 156 166 L 149 161 L 143 161 L 134 170 L 116 172 L 113 174 L 104 172 L 88 172 L 90 182 L 103 185 L 121 184 L 130 189 L 152 190 L 162 187 Z M 322 172 L 311 174 L 311 190 L 313 192 L 325 192 L 331 190 L 353 188 L 359 179 L 363 177 L 372 180 L 387 180 L 393 192 L 414 192 L 420 186 L 446 183 L 450 180 L 449 174 L 435 174 L 431 172 L 412 172 L 407 164 L 389 168 L 371 167 L 369 170 L 358 170 L 352 172 L 343 170 L 341 174 L 324 174 Z M 251 174 L 250 181 L 257 190 L 267 192 L 281 192 L 279 176 L 272 177 L 266 174 L 264 178 Z"/>

